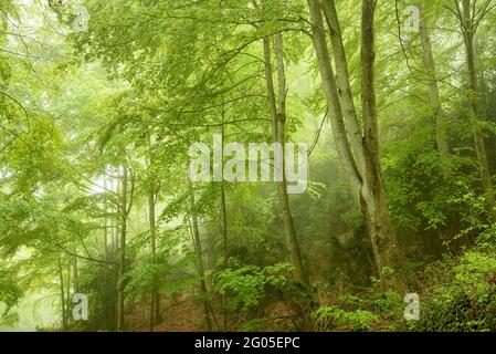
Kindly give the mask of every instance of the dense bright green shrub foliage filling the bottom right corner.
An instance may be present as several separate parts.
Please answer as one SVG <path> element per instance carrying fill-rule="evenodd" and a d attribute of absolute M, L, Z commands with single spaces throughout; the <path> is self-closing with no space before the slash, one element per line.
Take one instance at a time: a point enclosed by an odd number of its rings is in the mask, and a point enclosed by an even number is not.
<path fill-rule="evenodd" d="M 490 228 L 475 249 L 446 262 L 452 269 L 431 275 L 435 285 L 426 296 L 419 329 L 424 331 L 495 331 L 496 261 Z M 433 266 L 434 267 L 434 266 Z M 430 271 L 435 274 L 434 270 Z"/>

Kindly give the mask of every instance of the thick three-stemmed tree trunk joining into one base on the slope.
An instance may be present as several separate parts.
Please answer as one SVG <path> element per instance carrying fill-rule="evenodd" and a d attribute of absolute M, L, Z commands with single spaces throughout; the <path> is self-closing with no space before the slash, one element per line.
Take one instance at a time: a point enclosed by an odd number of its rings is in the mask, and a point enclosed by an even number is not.
<path fill-rule="evenodd" d="M 308 0 L 314 46 L 328 104 L 333 134 L 351 195 L 360 208 L 371 240 L 376 266 L 386 287 L 403 288 L 401 257 L 382 183 L 379 156 L 379 129 L 374 91 L 376 2 L 362 1 L 361 69 L 363 133 L 358 125 L 350 90 L 346 53 L 334 0 Z M 337 74 L 335 76 L 324 30 L 323 11 L 329 25 Z M 389 268 L 393 270 L 386 271 Z"/>

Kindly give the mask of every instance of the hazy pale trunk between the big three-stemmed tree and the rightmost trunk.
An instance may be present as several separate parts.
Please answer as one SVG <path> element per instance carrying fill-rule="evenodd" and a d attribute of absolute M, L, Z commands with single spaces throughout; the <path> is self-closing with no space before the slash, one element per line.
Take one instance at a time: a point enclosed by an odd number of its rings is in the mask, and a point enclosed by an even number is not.
<path fill-rule="evenodd" d="M 437 152 L 441 158 L 441 171 L 444 179 L 450 179 L 450 143 L 447 139 L 446 113 L 441 104 L 440 87 L 437 83 L 437 72 L 435 67 L 434 55 L 432 53 L 432 43 L 429 31 L 429 23 L 425 13 L 422 11 L 420 23 L 420 39 L 422 41 L 422 59 L 428 74 L 429 101 L 434 114 L 434 129 Z"/>

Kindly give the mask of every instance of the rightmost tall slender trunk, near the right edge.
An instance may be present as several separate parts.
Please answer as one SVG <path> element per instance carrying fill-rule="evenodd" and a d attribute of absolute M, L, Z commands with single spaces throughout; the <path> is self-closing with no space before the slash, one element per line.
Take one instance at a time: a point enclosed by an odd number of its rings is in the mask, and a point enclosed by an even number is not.
<path fill-rule="evenodd" d="M 468 87 L 471 88 L 471 107 L 472 107 L 472 122 L 474 132 L 475 150 L 477 153 L 478 168 L 481 174 L 481 180 L 484 191 L 488 191 L 492 188 L 489 163 L 487 159 L 486 146 L 484 136 L 478 125 L 478 82 L 477 82 L 477 69 L 475 65 L 475 50 L 474 50 L 474 37 L 475 24 L 472 13 L 472 1 L 463 0 L 463 14 L 461 14 L 462 31 L 465 42 L 466 52 L 466 65 L 468 72 Z M 474 6 L 475 8 L 475 6 Z"/>

